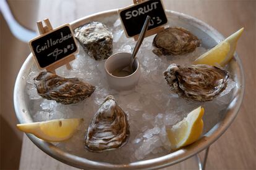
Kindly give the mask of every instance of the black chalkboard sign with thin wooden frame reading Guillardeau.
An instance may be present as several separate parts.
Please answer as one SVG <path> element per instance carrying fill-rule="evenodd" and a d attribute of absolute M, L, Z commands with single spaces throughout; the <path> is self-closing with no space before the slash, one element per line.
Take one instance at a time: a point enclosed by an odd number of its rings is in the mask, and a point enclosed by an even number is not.
<path fill-rule="evenodd" d="M 69 24 L 42 34 L 30 42 L 30 49 L 40 68 L 49 67 L 78 51 Z"/>

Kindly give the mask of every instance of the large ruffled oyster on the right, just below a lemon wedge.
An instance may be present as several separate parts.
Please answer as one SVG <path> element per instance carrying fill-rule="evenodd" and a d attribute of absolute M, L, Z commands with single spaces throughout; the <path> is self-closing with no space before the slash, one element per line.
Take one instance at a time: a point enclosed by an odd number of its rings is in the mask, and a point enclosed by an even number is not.
<path fill-rule="evenodd" d="M 171 90 L 180 97 L 198 102 L 212 100 L 228 84 L 228 72 L 210 65 L 169 65 L 164 76 Z"/>

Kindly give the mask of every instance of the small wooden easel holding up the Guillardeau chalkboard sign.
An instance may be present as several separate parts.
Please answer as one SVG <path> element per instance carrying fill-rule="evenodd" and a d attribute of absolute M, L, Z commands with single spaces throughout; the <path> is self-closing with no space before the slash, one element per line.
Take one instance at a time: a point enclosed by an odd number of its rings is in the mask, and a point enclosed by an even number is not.
<path fill-rule="evenodd" d="M 43 26 L 43 22 L 45 22 L 45 26 Z M 36 22 L 36 25 L 38 27 L 40 35 L 43 35 L 45 33 L 48 33 L 49 31 L 53 30 L 53 26 L 51 26 L 51 23 L 49 22 L 49 19 L 46 18 L 43 20 L 43 22 Z M 75 59 L 75 55 L 71 55 L 70 57 L 67 57 L 64 60 L 61 60 L 59 62 L 54 63 L 53 65 L 50 65 L 46 67 L 47 71 L 51 71 L 52 73 L 56 73 L 56 69 L 61 67 L 62 65 L 66 65 L 67 70 L 71 70 L 72 67 L 69 62 Z"/>

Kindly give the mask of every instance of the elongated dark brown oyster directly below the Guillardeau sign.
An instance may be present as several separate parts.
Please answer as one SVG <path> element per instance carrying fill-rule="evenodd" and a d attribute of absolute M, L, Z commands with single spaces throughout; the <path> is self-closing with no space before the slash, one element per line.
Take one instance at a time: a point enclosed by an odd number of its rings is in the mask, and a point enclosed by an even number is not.
<path fill-rule="evenodd" d="M 43 71 L 34 78 L 34 84 L 41 97 L 56 100 L 58 103 L 77 103 L 89 97 L 95 87 L 79 78 L 62 78 L 51 72 Z"/>

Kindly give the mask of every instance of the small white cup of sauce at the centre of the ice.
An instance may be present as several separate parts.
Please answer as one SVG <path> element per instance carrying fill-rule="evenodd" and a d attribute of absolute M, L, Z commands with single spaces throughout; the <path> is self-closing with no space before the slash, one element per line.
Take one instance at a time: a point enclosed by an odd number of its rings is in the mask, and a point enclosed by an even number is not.
<path fill-rule="evenodd" d="M 132 54 L 128 52 L 118 52 L 111 55 L 105 62 L 106 78 L 108 80 L 109 86 L 117 91 L 125 91 L 134 88 L 140 78 L 140 62 L 136 58 L 134 61 L 134 73 L 120 77 L 114 76 L 113 73 L 117 69 L 121 69 L 129 65 L 132 59 Z"/>

